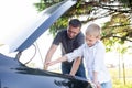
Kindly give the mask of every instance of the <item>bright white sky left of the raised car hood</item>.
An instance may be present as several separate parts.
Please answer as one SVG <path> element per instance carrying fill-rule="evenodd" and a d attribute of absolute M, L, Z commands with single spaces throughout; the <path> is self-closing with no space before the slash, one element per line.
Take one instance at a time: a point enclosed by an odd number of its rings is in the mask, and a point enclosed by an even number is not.
<path fill-rule="evenodd" d="M 1 0 L 0 1 L 0 43 L 15 35 L 37 12 L 34 2 L 38 0 Z M 14 34 L 15 33 L 15 34 Z M 12 34 L 12 35 L 11 35 Z"/>

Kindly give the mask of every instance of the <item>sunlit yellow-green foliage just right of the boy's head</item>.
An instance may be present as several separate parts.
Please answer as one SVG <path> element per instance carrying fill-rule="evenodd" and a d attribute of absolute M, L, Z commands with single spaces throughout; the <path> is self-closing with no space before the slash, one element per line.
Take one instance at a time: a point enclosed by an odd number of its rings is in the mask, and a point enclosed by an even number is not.
<path fill-rule="evenodd" d="M 125 41 L 132 42 L 131 20 L 124 13 L 114 13 L 111 20 L 102 26 L 102 41 L 110 51 L 116 43 L 124 44 Z M 114 50 L 114 48 L 113 48 Z"/>

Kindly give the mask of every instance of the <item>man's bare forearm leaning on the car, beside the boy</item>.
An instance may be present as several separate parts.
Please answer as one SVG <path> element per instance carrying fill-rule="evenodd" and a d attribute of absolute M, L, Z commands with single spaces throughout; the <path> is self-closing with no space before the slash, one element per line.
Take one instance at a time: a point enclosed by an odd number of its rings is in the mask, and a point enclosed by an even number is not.
<path fill-rule="evenodd" d="M 77 59 L 74 61 L 72 70 L 70 70 L 70 73 L 69 73 L 70 75 L 75 76 L 76 72 L 77 72 L 78 68 L 79 68 L 80 62 L 81 62 L 81 57 L 77 57 Z"/>

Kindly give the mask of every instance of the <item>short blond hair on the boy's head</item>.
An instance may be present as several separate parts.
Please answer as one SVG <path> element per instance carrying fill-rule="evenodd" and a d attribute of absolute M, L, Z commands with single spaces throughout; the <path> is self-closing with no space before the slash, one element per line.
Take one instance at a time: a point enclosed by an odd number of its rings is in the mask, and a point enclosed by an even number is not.
<path fill-rule="evenodd" d="M 92 23 L 86 29 L 86 35 L 100 37 L 101 28 L 99 25 Z"/>

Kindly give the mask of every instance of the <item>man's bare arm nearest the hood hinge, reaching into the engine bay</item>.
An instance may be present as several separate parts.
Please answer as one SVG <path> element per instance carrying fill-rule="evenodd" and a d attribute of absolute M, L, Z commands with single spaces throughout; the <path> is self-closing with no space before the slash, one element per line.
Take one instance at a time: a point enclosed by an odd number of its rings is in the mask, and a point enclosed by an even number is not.
<path fill-rule="evenodd" d="M 48 50 L 46 57 L 45 57 L 45 62 L 44 62 L 44 69 L 46 70 L 48 68 L 48 66 L 46 65 L 47 62 L 50 62 L 52 59 L 53 54 L 55 53 L 56 48 L 58 45 L 52 44 L 51 48 Z"/>

